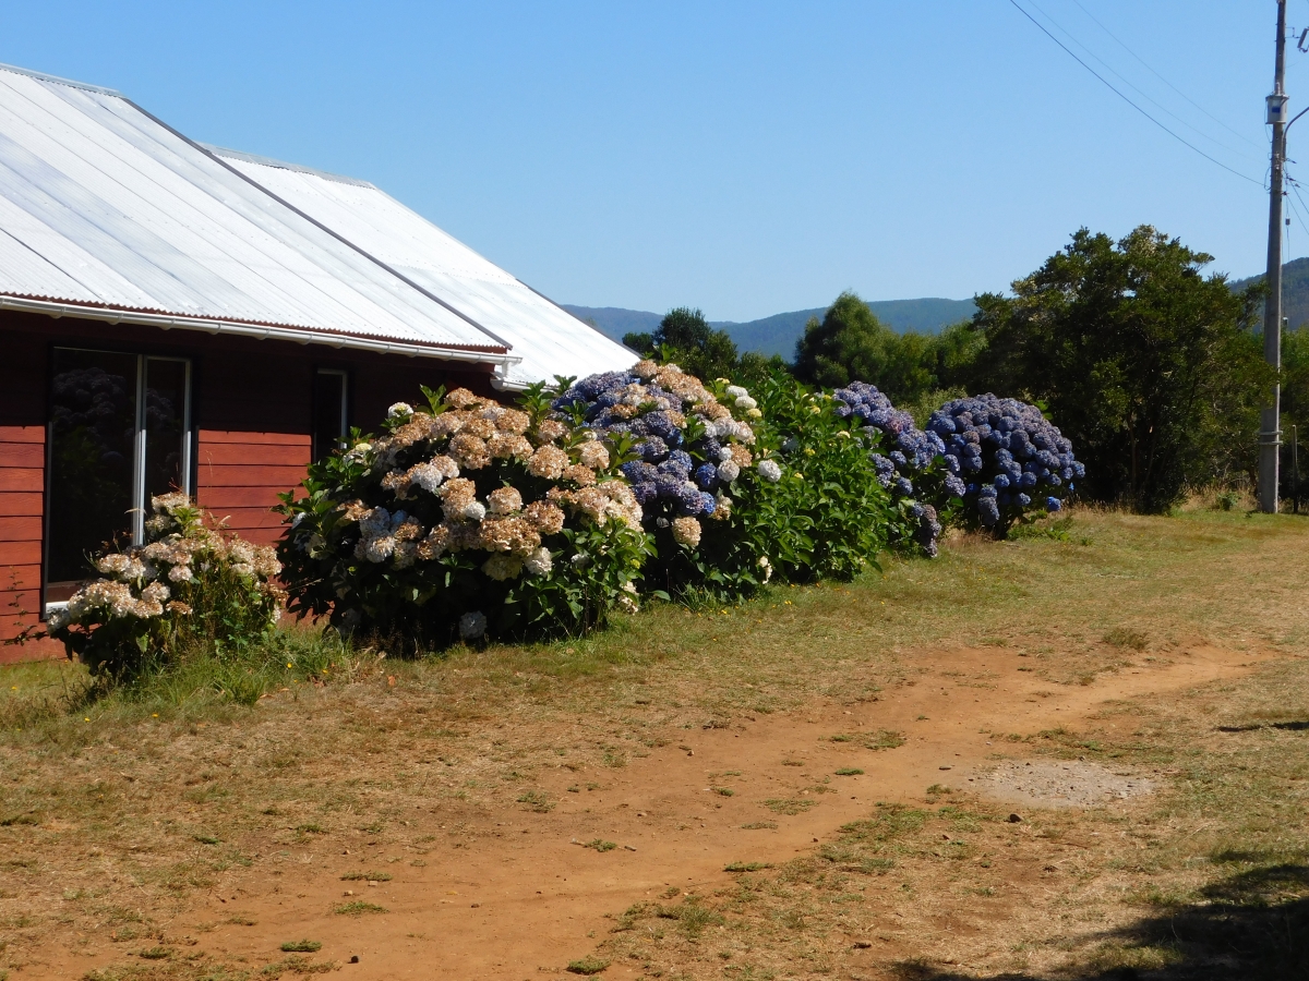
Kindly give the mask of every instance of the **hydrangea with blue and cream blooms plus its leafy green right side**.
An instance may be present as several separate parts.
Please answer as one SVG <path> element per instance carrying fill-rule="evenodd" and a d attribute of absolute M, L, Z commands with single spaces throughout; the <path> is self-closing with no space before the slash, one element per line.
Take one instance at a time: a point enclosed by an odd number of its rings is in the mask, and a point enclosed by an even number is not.
<path fill-rule="evenodd" d="M 775 573 L 848 578 L 886 547 L 890 493 L 831 396 L 789 377 L 764 379 L 757 396 L 643 361 L 554 402 L 579 426 L 634 441 L 639 459 L 622 472 L 657 543 L 651 591 L 732 599 Z"/>

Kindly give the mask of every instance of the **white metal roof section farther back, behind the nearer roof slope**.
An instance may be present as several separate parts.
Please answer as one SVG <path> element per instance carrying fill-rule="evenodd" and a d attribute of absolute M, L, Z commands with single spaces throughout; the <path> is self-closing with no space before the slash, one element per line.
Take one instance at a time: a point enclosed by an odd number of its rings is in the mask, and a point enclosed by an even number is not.
<path fill-rule="evenodd" d="M 365 181 L 209 146 L 314 221 L 509 344 L 508 385 L 631 366 L 636 356 Z"/>

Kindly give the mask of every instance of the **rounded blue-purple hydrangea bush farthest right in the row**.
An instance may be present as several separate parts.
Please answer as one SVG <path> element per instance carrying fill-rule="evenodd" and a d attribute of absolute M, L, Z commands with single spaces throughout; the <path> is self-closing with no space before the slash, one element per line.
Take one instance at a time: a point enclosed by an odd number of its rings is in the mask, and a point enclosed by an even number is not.
<path fill-rule="evenodd" d="M 1014 522 L 1058 511 L 1086 472 L 1041 409 L 1016 399 L 954 399 L 927 428 L 944 442 L 950 473 L 967 481 L 965 522 L 997 538 Z"/>

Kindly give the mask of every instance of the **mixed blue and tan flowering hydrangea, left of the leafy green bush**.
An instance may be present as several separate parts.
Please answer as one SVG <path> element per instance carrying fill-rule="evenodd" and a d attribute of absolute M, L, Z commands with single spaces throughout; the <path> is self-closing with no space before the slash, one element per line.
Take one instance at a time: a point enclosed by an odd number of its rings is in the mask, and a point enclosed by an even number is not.
<path fill-rule="evenodd" d="M 740 595 L 768 581 L 778 548 L 757 517 L 783 468 L 759 443 L 763 413 L 745 388 L 640 361 L 571 383 L 552 408 L 631 449 L 619 471 L 656 543 L 647 589 Z"/>

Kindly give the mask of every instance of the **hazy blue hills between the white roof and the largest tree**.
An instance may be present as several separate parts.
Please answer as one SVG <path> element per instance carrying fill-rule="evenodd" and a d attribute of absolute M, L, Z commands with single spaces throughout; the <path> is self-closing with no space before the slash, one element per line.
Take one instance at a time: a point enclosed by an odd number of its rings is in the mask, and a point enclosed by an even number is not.
<path fill-rule="evenodd" d="M 662 314 L 648 310 L 627 310 L 620 306 L 576 306 L 562 303 L 564 310 L 583 320 L 590 320 L 602 334 L 622 341 L 624 334 L 648 334 L 658 327 Z M 942 300 L 923 297 L 919 300 L 873 300 L 869 309 L 894 331 L 905 334 L 936 334 L 942 327 L 973 317 L 977 306 L 971 300 Z M 725 330 L 741 351 L 757 351 L 761 354 L 781 354 L 788 361 L 795 357 L 796 341 L 804 336 L 805 323 L 810 317 L 822 319 L 826 306 L 812 310 L 792 310 L 774 314 L 758 320 L 737 323 L 734 320 L 711 320 L 715 327 Z"/>

